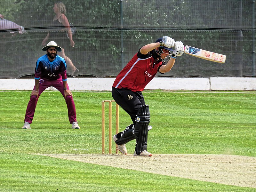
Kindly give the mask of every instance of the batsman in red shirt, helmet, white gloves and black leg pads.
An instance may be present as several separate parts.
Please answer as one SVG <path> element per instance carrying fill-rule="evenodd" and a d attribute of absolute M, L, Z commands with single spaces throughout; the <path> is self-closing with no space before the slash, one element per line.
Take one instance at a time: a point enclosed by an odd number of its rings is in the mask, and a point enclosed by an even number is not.
<path fill-rule="evenodd" d="M 174 47 L 173 53 L 171 47 Z M 145 105 L 142 91 L 159 72 L 164 74 L 172 69 L 177 56 L 184 52 L 181 41 L 175 42 L 169 36 L 158 38 L 155 43 L 140 48 L 132 60 L 117 75 L 112 86 L 112 97 L 131 116 L 132 124 L 123 132 L 113 136 L 121 153 L 127 154 L 125 144 L 136 139 L 134 156 L 152 156 L 147 151 L 149 106 Z"/>

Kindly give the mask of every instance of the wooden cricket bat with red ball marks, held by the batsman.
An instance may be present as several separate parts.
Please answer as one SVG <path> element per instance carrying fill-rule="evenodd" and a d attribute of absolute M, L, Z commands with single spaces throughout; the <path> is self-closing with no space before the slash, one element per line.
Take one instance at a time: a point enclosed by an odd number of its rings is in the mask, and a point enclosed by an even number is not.
<path fill-rule="evenodd" d="M 201 59 L 205 59 L 213 62 L 225 63 L 226 61 L 226 55 L 205 51 L 203 49 L 198 49 L 196 47 L 191 47 L 188 45 L 184 47 L 184 52 L 188 55 L 192 55 L 194 57 L 199 57 Z"/>

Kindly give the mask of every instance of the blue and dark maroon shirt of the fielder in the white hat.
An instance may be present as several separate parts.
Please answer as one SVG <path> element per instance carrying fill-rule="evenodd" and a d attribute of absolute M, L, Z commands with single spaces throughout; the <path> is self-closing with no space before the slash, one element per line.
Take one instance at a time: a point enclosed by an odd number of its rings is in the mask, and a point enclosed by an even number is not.
<path fill-rule="evenodd" d="M 56 80 L 62 77 L 63 81 L 67 81 L 66 69 L 67 64 L 62 57 L 56 55 L 55 59 L 50 62 L 45 54 L 36 61 L 35 79 Z"/>

